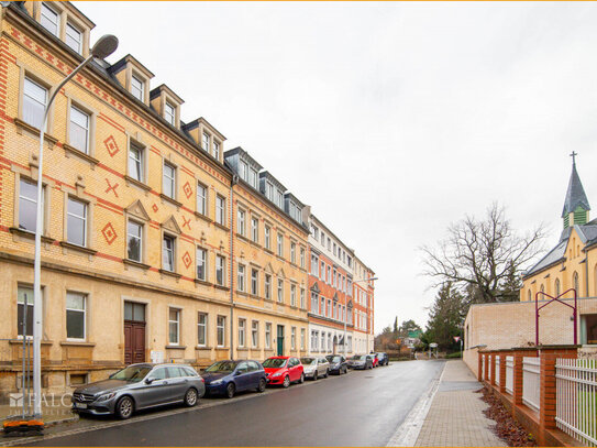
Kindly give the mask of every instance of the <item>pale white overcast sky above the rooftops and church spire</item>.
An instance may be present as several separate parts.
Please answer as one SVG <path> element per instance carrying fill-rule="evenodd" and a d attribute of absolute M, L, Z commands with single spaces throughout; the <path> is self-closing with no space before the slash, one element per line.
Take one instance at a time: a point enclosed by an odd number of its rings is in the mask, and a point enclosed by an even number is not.
<path fill-rule="evenodd" d="M 594 3 L 76 6 L 356 250 L 376 331 L 425 323 L 419 248 L 466 214 L 555 244 L 573 150 L 597 204 Z"/>

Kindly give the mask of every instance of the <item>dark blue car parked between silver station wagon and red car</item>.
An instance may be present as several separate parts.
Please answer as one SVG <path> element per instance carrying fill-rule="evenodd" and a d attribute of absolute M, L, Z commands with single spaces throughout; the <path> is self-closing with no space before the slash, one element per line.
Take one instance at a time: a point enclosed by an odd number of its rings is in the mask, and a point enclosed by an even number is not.
<path fill-rule="evenodd" d="M 208 394 L 229 398 L 242 391 L 263 392 L 267 384 L 264 368 L 252 360 L 214 362 L 203 371 L 203 380 Z"/>

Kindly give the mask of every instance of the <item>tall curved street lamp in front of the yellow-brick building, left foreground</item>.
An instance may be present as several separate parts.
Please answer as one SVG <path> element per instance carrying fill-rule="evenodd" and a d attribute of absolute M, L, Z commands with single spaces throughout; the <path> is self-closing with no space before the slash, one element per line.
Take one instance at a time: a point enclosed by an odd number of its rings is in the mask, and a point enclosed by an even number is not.
<path fill-rule="evenodd" d="M 93 57 L 104 58 L 111 55 L 118 47 L 118 37 L 112 34 L 106 34 L 101 36 L 96 45 L 91 48 L 89 56 L 80 63 L 60 84 L 54 89 L 54 92 L 49 97 L 49 101 L 44 108 L 44 118 L 40 125 L 40 155 L 38 155 L 38 170 L 37 170 L 37 204 L 36 204 L 36 217 L 35 217 L 35 258 L 33 262 L 33 413 L 36 416 L 42 415 L 42 288 L 41 288 L 41 245 L 42 245 L 42 229 L 44 228 L 44 215 L 42 208 L 42 173 L 44 163 L 44 132 L 47 123 L 47 114 L 52 102 L 58 95 L 58 91 L 68 83 L 73 77 L 81 70 L 87 64 L 93 59 Z M 23 337 L 26 337 L 23 335 Z M 24 375 L 25 372 L 23 372 Z"/>

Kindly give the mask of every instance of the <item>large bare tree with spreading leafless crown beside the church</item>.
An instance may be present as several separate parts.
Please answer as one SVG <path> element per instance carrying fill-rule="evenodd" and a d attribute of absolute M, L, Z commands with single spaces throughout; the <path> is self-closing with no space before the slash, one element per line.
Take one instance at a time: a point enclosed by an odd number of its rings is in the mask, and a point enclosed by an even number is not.
<path fill-rule="evenodd" d="M 452 282 L 466 305 L 512 301 L 512 278 L 520 277 L 522 267 L 543 251 L 545 238 L 543 225 L 517 234 L 496 203 L 485 220 L 466 216 L 447 230 L 449 237 L 438 248 L 421 249 L 423 274 L 434 278 L 433 287 Z"/>

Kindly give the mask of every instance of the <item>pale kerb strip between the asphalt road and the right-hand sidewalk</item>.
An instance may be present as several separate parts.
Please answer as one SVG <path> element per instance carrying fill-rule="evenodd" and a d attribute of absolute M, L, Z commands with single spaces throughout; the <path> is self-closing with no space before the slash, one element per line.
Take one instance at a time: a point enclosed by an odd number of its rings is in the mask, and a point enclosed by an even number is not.
<path fill-rule="evenodd" d="M 398 429 L 396 429 L 396 433 L 394 433 L 394 436 L 391 436 L 386 447 L 413 447 L 414 444 L 417 444 L 417 439 L 419 438 L 419 434 L 423 427 L 423 423 L 431 407 L 431 403 L 433 402 L 433 397 L 435 396 L 440 382 L 442 381 L 445 364 L 446 363 L 444 362 L 442 373 L 435 375 L 435 378 L 431 380 L 431 384 L 429 385 L 428 390 L 423 392 L 414 406 L 412 406 L 412 409 L 410 409 L 402 424 L 398 427 Z"/>

